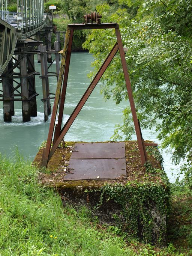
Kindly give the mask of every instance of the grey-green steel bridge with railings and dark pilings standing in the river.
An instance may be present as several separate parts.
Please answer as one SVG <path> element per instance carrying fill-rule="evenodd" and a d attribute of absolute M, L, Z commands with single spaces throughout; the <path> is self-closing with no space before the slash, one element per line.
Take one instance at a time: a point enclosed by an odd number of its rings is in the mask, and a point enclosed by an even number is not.
<path fill-rule="evenodd" d="M 58 78 L 60 58 L 60 32 L 56 32 L 54 50 L 52 32 L 52 20 L 44 14 L 43 0 L 17 0 L 16 12 L 9 12 L 7 0 L 0 0 L 0 102 L 3 101 L 5 122 L 10 122 L 15 114 L 14 101 L 22 102 L 23 122 L 37 116 L 35 75 L 40 73 L 35 71 L 35 54 L 41 63 L 42 101 L 45 121 L 48 119 L 50 99 L 54 98 L 50 96 L 54 93 L 49 92 L 49 77 Z M 65 40 L 65 33 L 63 37 Z M 53 53 L 56 72 L 49 72 Z"/>

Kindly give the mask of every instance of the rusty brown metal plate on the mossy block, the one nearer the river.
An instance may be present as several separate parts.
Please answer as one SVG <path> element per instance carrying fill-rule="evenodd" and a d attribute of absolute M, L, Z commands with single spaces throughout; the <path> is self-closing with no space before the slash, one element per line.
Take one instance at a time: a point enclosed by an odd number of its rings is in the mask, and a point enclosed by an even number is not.
<path fill-rule="evenodd" d="M 76 143 L 71 159 L 125 158 L 124 142 Z"/>

